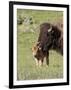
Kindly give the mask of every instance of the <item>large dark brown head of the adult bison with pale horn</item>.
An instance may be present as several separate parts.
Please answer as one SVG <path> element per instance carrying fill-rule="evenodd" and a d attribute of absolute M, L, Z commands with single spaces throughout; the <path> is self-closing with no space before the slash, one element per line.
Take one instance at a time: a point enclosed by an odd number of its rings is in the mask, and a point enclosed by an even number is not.
<path fill-rule="evenodd" d="M 50 23 L 42 24 L 40 27 L 39 41 L 43 51 L 57 47 L 60 36 L 61 31 L 57 26 L 54 26 Z"/>

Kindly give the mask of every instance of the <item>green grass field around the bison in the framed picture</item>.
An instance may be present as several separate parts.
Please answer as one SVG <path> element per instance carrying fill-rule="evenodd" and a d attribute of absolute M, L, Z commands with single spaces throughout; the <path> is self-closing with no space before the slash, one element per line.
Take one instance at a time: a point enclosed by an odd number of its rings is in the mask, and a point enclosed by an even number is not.
<path fill-rule="evenodd" d="M 36 67 L 31 48 L 34 42 L 37 42 L 40 23 L 58 21 L 63 18 L 63 12 L 18 9 L 17 19 L 19 17 L 21 20 L 24 17 L 32 17 L 33 24 L 24 21 L 22 24 L 17 25 L 17 79 L 37 80 L 62 78 L 63 56 L 51 50 L 49 53 L 49 67 L 47 67 L 45 61 L 43 67 Z"/>

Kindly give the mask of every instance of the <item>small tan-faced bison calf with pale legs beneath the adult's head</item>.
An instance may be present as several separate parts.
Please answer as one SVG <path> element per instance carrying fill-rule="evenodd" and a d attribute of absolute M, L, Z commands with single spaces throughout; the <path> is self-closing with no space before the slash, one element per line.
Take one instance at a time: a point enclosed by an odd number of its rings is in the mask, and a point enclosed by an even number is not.
<path fill-rule="evenodd" d="M 43 66 L 44 58 L 46 58 L 47 65 L 49 65 L 49 53 L 42 51 L 39 42 L 32 47 L 32 52 L 37 66 Z"/>

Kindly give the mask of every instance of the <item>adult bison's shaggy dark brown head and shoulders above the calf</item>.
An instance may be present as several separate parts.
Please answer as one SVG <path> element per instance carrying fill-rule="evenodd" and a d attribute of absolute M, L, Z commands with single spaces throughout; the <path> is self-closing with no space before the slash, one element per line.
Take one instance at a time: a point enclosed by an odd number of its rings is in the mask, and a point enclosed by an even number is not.
<path fill-rule="evenodd" d="M 52 30 L 48 32 L 50 27 Z M 63 31 L 58 26 L 50 23 L 41 24 L 38 42 L 43 52 L 54 49 L 63 55 Z"/>

